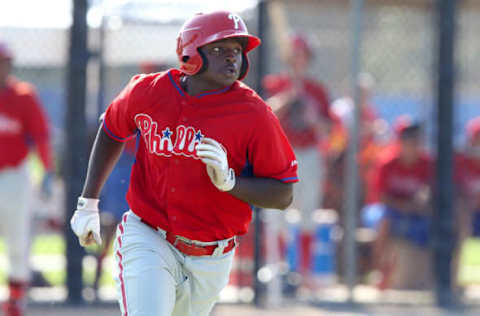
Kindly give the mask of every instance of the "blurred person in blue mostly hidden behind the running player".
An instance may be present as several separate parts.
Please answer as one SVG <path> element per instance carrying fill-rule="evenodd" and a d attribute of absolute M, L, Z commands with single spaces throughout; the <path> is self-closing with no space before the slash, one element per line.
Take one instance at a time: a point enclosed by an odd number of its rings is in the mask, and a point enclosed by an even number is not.
<path fill-rule="evenodd" d="M 140 73 L 150 74 L 167 70 L 169 66 L 164 62 L 144 61 L 140 63 L 139 68 Z M 103 121 L 103 118 L 104 115 L 100 117 L 100 122 Z M 115 236 L 117 224 L 120 223 L 123 213 L 130 209 L 125 196 L 127 195 L 130 184 L 132 164 L 135 161 L 136 142 L 136 138 L 125 142 L 125 149 L 118 159 L 115 168 L 113 168 L 103 190 L 102 202 L 100 203 L 100 208 L 102 209 L 100 225 L 104 242 L 100 245 L 96 254 L 97 268 L 93 282 L 93 288 L 97 294 L 97 298 L 104 259 L 108 255 L 113 237 Z"/>

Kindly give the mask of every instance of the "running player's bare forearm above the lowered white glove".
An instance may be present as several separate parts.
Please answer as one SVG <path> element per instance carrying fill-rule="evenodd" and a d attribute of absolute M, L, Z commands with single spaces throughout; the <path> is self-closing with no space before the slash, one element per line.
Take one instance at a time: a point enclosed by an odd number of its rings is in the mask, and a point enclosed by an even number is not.
<path fill-rule="evenodd" d="M 125 143 L 110 138 L 100 127 L 88 162 L 82 196 L 98 199 L 103 185 L 122 153 Z"/>

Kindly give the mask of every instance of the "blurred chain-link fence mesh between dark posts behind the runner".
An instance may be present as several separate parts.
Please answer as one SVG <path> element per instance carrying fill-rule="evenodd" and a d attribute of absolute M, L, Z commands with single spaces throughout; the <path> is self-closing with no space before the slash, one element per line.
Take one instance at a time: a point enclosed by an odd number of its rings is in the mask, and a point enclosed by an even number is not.
<path fill-rule="evenodd" d="M 263 267 L 257 273 L 253 271 L 253 225 L 241 238 L 230 284 L 222 293 L 223 301 L 252 301 L 257 277 L 271 304 L 279 304 L 282 297 L 346 301 L 351 298 L 345 285 L 347 270 L 356 267 L 356 301 L 432 302 L 429 221 L 435 210 L 431 207 L 430 184 L 436 148 L 434 132 L 441 128 L 434 116 L 438 53 L 435 2 L 363 3 L 362 12 L 356 12 L 362 16 L 362 29 L 355 30 L 351 1 L 268 2 L 268 76 L 263 81 L 263 96 L 284 124 L 299 160 L 302 180 L 296 185 L 299 190 L 289 210 L 261 213 Z M 86 137 L 93 140 L 99 116 L 134 74 L 177 67 L 176 36 L 184 20 L 195 11 L 202 8 L 192 5 L 187 10 L 173 3 L 159 5 L 148 1 L 118 5 L 91 2 Z M 241 15 L 250 31 L 258 33 L 256 7 L 252 5 Z M 466 136 L 465 127 L 469 120 L 480 116 L 480 71 L 476 71 L 480 69 L 475 63 L 480 46 L 476 32 L 479 17 L 480 7 L 475 1 L 462 2 L 457 21 L 454 140 L 455 149 L 467 154 L 473 152 L 473 140 Z M 360 37 L 361 47 L 360 74 L 355 83 L 353 36 Z M 68 132 L 64 126 L 68 30 L 0 26 L 0 39 L 15 52 L 14 74 L 36 86 L 48 112 L 57 171 L 61 173 L 63 139 Z M 251 55 L 251 70 L 245 80 L 253 87 L 256 57 L 255 53 Z M 308 80 L 298 70 L 302 67 L 307 70 Z M 357 259 L 352 265 L 345 257 L 345 248 L 352 245 L 345 242 L 344 223 L 345 188 L 349 181 L 346 152 L 353 139 L 348 131 L 355 113 L 355 88 L 360 101 L 360 190 L 354 233 Z M 278 103 L 274 97 L 279 95 L 287 101 Z M 419 148 L 426 154 L 420 155 Z M 134 151 L 133 142 L 102 196 L 105 214 L 111 214 L 102 219 L 104 231 L 110 236 L 119 215 L 128 208 L 122 196 L 128 186 Z M 462 159 L 475 161 L 470 156 Z M 475 169 L 475 163 L 471 163 Z M 430 173 L 426 172 L 430 169 Z M 473 175 L 475 171 L 466 173 Z M 458 187 L 468 186 L 471 194 L 459 193 L 461 202 L 468 206 L 455 204 L 456 215 L 468 214 L 465 218 L 471 218 L 459 219 L 471 225 L 456 226 L 461 237 L 452 272 L 453 291 L 465 301 L 478 296 L 476 287 L 480 283 L 475 213 L 480 207 L 475 204 L 480 196 L 476 182 L 479 179 L 472 176 L 459 180 Z M 61 238 L 45 236 L 52 227 L 61 228 L 65 222 L 60 180 L 57 190 L 57 201 L 42 206 L 41 217 L 54 220 L 40 231 L 45 243 L 56 243 L 60 253 L 55 255 L 61 258 Z M 60 233 L 61 229 L 57 237 Z M 33 267 L 43 269 L 50 283 L 61 285 L 64 272 L 57 272 L 62 271 L 64 260 L 58 259 L 56 265 L 41 264 L 49 259 L 45 259 L 48 253 L 40 244 L 34 247 Z M 99 287 L 101 299 L 113 300 L 111 253 L 108 249 L 104 253 L 101 249 L 87 252 L 86 286 Z M 104 273 L 95 272 L 96 258 L 105 258 Z M 65 297 L 62 293 L 58 294 L 59 299 Z M 85 294 L 87 298 L 94 297 L 89 290 Z"/>

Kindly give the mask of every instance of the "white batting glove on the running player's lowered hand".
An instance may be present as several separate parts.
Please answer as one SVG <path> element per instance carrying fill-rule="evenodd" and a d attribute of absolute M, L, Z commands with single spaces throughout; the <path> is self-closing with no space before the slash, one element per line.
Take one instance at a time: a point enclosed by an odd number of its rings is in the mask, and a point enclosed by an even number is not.
<path fill-rule="evenodd" d="M 70 220 L 70 226 L 82 247 L 102 244 L 100 236 L 99 199 L 78 198 L 77 209 Z"/>

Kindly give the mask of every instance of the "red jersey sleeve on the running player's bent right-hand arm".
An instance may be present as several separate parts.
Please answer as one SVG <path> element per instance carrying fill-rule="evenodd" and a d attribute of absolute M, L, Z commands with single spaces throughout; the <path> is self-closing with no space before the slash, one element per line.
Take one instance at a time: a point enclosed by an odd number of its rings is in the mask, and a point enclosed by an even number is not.
<path fill-rule="evenodd" d="M 298 163 L 277 117 L 266 109 L 248 146 L 248 160 L 255 177 L 298 182 Z"/>

